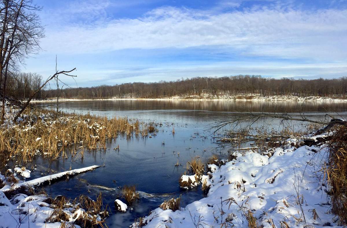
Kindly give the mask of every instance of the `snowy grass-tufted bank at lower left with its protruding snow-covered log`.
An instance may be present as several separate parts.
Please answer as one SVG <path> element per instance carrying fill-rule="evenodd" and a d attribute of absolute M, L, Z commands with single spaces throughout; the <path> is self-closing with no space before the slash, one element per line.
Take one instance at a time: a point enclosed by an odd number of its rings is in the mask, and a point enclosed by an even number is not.
<path fill-rule="evenodd" d="M 87 211 L 81 203 L 70 203 L 64 196 L 52 199 L 46 194 L 33 195 L 30 186 L 78 173 L 100 166 L 73 169 L 66 172 L 40 177 L 31 181 L 19 181 L 15 176 L 0 173 L 0 227 L 80 227 L 102 221 L 104 212 Z M 13 181 L 19 183 L 14 183 Z M 12 182 L 11 182 L 12 181 Z M 89 199 L 92 201 L 91 199 Z M 95 202 L 95 201 L 92 201 Z M 63 219 L 64 218 L 64 219 Z"/>

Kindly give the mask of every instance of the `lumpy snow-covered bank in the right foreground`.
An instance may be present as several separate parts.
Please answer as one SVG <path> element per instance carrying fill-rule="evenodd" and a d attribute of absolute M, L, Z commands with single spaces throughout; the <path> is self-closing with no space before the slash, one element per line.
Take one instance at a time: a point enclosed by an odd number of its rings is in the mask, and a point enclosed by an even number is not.
<path fill-rule="evenodd" d="M 248 227 L 252 215 L 261 227 L 337 226 L 329 187 L 322 180 L 324 146 L 296 149 L 288 144 L 268 155 L 234 155 L 236 159 L 210 173 L 208 197 L 177 211 L 157 208 L 141 225 Z"/>

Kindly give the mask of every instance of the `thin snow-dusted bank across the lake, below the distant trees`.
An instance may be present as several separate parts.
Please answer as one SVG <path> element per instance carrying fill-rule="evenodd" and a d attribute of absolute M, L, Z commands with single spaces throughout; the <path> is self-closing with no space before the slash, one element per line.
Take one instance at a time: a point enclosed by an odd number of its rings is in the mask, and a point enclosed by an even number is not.
<path fill-rule="evenodd" d="M 347 99 L 342 98 L 331 98 L 331 97 L 299 97 L 291 95 L 274 95 L 274 96 L 263 96 L 259 94 L 240 94 L 240 95 L 188 95 L 188 96 L 174 96 L 167 98 L 104 98 L 104 99 L 78 99 L 78 98 L 60 98 L 59 101 L 81 101 L 81 100 L 258 100 L 258 101 L 324 101 L 324 102 L 346 102 Z M 32 100 L 32 103 L 39 102 L 57 102 L 56 99 L 46 100 Z"/>

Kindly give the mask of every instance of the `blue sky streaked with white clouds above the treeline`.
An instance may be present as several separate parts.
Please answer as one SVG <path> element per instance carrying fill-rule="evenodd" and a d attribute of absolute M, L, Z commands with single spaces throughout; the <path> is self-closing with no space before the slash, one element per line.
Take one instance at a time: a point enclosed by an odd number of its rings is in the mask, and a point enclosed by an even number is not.
<path fill-rule="evenodd" d="M 238 74 L 347 76 L 347 0 L 34 0 L 45 37 L 23 71 L 71 87 Z"/>

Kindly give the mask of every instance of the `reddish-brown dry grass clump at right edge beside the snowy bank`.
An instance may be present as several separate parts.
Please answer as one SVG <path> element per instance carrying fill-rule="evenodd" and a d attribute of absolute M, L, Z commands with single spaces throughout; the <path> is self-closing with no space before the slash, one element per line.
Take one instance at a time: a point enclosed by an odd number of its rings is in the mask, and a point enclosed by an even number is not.
<path fill-rule="evenodd" d="M 331 186 L 332 211 L 342 226 L 347 225 L 347 127 L 337 129 L 328 141 L 329 159 L 325 170 Z"/>

